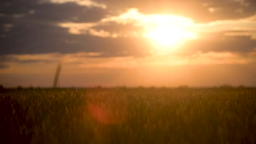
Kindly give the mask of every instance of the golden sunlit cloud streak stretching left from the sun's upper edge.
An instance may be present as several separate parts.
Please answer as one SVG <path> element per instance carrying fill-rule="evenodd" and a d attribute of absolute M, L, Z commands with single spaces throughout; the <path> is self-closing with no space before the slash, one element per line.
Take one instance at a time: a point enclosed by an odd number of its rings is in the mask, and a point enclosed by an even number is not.
<path fill-rule="evenodd" d="M 192 19 L 172 16 L 172 15 L 144 15 L 139 13 L 137 9 L 131 8 L 125 13 L 121 13 L 118 16 L 107 16 L 100 21 L 95 23 L 59 23 L 60 27 L 68 28 L 71 34 L 91 34 L 100 37 L 117 37 L 117 36 L 139 36 L 144 37 L 147 31 L 152 28 L 164 25 L 165 27 L 173 27 L 179 25 L 179 27 L 184 27 L 189 29 L 193 24 Z M 123 29 L 120 29 L 117 33 L 111 33 L 106 31 L 104 28 L 117 27 L 117 25 L 123 25 Z M 131 29 L 131 26 L 133 29 Z M 96 30 L 96 28 L 102 28 Z M 120 27 L 120 26 L 119 26 Z M 125 29 L 130 27 L 130 32 Z M 113 28 L 111 29 L 113 31 Z M 141 29 L 140 32 L 136 31 Z M 118 31 L 118 29 L 116 30 Z M 123 31 L 123 32 L 122 32 Z M 144 31 L 144 33 L 143 33 Z"/>

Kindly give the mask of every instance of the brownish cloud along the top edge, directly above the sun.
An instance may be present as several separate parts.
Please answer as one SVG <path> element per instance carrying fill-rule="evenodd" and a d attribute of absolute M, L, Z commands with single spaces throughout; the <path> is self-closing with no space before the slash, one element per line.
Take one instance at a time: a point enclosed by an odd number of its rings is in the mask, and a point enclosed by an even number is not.
<path fill-rule="evenodd" d="M 197 22 L 240 19 L 256 13 L 256 0 L 98 0 L 109 8 L 123 11 L 138 8 L 141 13 L 168 13 L 186 16 Z M 242 0 L 240 0 L 242 1 Z M 216 11 L 211 13 L 209 8 Z"/>

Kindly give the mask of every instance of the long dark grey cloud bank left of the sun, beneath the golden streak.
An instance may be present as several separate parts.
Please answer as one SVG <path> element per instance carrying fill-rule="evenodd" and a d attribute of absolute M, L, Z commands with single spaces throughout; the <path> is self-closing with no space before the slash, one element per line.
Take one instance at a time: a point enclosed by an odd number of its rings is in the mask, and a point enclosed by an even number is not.
<path fill-rule="evenodd" d="M 92 31 L 89 31 L 93 33 Z M 97 34 L 95 34 L 97 35 Z M 101 35 L 101 33 L 99 34 Z M 9 43 L 14 40 L 13 43 Z M 68 29 L 44 24 L 19 24 L 0 39 L 0 55 L 102 52 L 105 56 L 144 56 L 149 44 L 135 37 L 72 35 Z M 126 53 L 123 53 L 126 51 Z"/>

